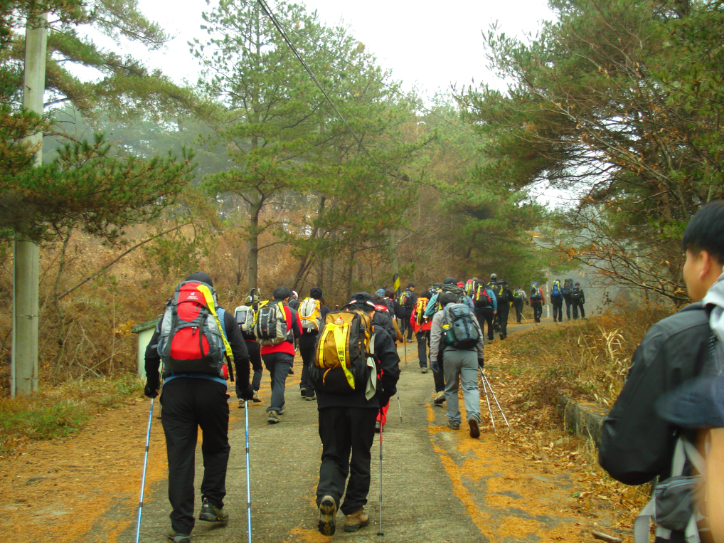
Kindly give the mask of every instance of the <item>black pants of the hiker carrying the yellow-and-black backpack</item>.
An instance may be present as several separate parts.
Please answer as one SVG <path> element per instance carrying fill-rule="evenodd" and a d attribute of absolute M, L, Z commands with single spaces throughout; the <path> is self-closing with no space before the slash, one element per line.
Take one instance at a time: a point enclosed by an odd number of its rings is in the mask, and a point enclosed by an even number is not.
<path fill-rule="evenodd" d="M 337 508 L 349 515 L 367 503 L 374 424 L 379 409 L 330 407 L 319 410 L 321 466 L 317 506 L 332 496 Z M 351 452 L 351 458 L 350 458 Z M 345 493 L 345 481 L 347 476 Z M 345 500 L 342 502 L 342 494 Z"/>

